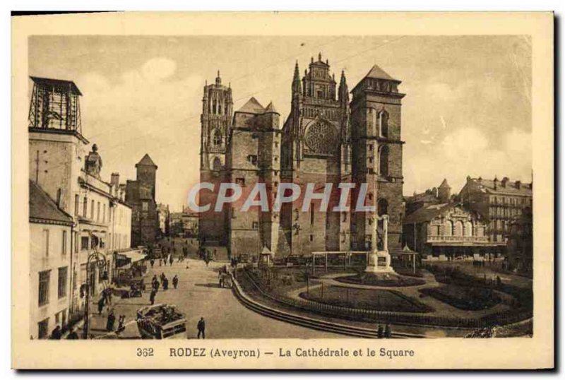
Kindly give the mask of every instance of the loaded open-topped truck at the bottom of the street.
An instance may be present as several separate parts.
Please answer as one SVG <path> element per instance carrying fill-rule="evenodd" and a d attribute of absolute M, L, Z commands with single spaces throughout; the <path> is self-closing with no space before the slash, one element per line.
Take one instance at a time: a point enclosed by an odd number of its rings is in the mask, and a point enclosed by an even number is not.
<path fill-rule="evenodd" d="M 138 309 L 136 316 L 143 339 L 185 339 L 185 315 L 173 304 L 156 304 Z"/>

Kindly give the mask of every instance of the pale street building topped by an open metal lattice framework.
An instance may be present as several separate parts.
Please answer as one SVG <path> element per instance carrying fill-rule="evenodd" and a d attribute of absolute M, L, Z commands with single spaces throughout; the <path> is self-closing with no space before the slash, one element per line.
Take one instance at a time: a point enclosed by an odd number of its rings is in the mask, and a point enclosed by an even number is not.
<path fill-rule="evenodd" d="M 102 157 L 96 144 L 88 151 L 90 143 L 81 132 L 82 93 L 76 84 L 50 78 L 31 79 L 30 180 L 73 218 L 69 243 L 72 261 L 69 312 L 76 314 L 84 307 L 87 281 L 90 280 L 90 291 L 96 294 L 111 280 L 113 234 L 119 230 L 114 225 L 113 214 L 120 205 L 127 206 L 117 200 L 115 186 L 100 177 Z M 128 239 L 129 234 L 124 237 Z M 88 258 L 93 252 L 104 257 L 104 270 L 91 263 L 87 271 Z"/>

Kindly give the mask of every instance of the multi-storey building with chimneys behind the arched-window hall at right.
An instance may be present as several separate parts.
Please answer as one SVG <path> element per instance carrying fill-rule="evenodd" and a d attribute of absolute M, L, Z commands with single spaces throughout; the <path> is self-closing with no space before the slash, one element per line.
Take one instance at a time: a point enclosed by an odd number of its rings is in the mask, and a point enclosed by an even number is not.
<path fill-rule="evenodd" d="M 460 201 L 470 210 L 480 213 L 489 223 L 489 240 L 506 245 L 513 219 L 525 208 L 532 210 L 533 184 L 521 181 L 467 177 L 458 194 Z"/>

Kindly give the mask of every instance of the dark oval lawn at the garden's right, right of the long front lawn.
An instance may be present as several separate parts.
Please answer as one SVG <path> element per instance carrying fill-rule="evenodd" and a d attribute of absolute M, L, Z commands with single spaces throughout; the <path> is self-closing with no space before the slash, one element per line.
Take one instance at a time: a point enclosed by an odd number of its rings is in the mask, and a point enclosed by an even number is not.
<path fill-rule="evenodd" d="M 421 289 L 420 292 L 462 310 L 490 309 L 501 301 L 496 293 L 484 287 L 464 287 L 449 284 L 440 287 L 427 287 Z"/>

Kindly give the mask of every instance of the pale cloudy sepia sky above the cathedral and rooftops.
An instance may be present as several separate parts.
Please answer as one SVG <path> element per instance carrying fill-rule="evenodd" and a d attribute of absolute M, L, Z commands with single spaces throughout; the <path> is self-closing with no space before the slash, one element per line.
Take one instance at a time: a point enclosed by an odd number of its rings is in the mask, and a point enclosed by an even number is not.
<path fill-rule="evenodd" d="M 404 194 L 458 192 L 471 177 L 530 182 L 531 42 L 526 36 L 33 36 L 29 75 L 74 81 L 102 179 L 135 179 L 148 153 L 157 202 L 181 210 L 198 182 L 203 86 L 218 70 L 234 110 L 251 96 L 290 112 L 295 62 L 322 54 L 350 90 L 378 64 L 402 81 Z M 27 110 L 26 110 L 27 111 Z"/>

